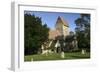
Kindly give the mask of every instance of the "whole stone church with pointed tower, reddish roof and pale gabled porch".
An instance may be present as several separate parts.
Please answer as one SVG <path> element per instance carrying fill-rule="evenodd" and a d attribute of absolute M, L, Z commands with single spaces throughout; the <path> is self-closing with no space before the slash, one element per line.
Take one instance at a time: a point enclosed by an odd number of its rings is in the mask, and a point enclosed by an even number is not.
<path fill-rule="evenodd" d="M 49 36 L 48 36 L 48 41 L 44 42 L 43 45 L 41 46 L 42 49 L 42 54 L 44 53 L 60 53 L 61 51 L 66 50 L 66 48 L 62 48 L 61 45 L 66 45 L 64 42 L 65 38 L 70 35 L 70 27 L 68 22 L 66 22 L 61 16 L 58 16 L 57 21 L 55 23 L 55 29 L 54 30 L 49 30 Z M 61 43 L 58 37 L 63 36 L 63 42 Z M 76 41 L 72 41 L 72 44 L 77 43 Z M 45 45 L 45 46 L 44 46 Z M 65 46 L 64 45 L 64 46 Z M 69 45 L 69 44 L 68 44 Z"/>

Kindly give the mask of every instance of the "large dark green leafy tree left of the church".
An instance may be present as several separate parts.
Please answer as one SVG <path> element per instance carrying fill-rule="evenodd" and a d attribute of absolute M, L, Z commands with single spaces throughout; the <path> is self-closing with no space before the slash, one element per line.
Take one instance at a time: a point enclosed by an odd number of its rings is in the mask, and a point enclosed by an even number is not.
<path fill-rule="evenodd" d="M 41 45 L 48 39 L 49 28 L 42 24 L 41 18 L 24 14 L 25 55 L 38 53 Z"/>

